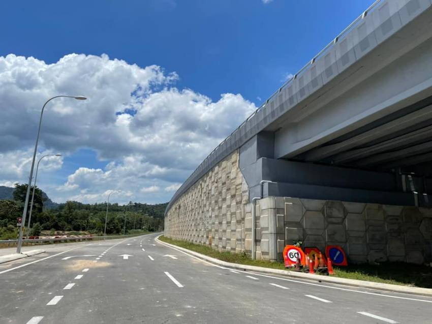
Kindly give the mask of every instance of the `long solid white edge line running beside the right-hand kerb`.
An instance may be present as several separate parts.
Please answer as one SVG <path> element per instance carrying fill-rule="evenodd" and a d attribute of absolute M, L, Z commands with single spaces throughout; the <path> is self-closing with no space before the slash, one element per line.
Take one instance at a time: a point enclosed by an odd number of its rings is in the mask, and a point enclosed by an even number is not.
<path fill-rule="evenodd" d="M 180 253 L 186 254 L 194 259 L 197 259 L 201 262 L 210 264 L 213 267 L 217 267 L 219 269 L 224 269 L 224 270 L 230 270 L 230 268 L 226 268 L 226 267 L 222 267 L 222 266 L 218 266 L 217 264 L 211 263 L 207 260 L 201 259 L 193 254 L 190 254 L 188 252 L 184 252 L 180 249 L 176 249 L 175 247 L 172 247 L 168 244 L 165 244 L 162 241 L 158 242 L 162 245 L 165 245 L 166 247 L 176 250 Z M 318 283 L 313 283 L 313 282 L 305 282 L 305 281 L 300 281 L 300 280 L 294 280 L 294 279 L 287 279 L 287 278 L 281 278 L 281 277 L 274 277 L 274 276 L 268 276 L 268 275 L 263 275 L 263 274 L 258 274 L 258 273 L 254 273 L 256 276 L 260 276 L 260 277 L 266 277 L 266 278 L 271 278 L 271 279 L 276 279 L 276 280 L 284 280 L 284 281 L 289 281 L 289 282 L 295 282 L 295 283 L 301 283 L 304 285 L 311 285 L 311 286 L 317 286 L 317 287 L 321 287 L 321 288 L 330 288 L 330 289 L 336 289 L 336 290 L 343 290 L 343 291 L 349 291 L 349 292 L 357 292 L 357 293 L 364 293 L 364 294 L 369 294 L 369 295 L 373 295 L 373 296 L 378 296 L 378 297 L 387 297 L 387 298 L 395 298 L 395 299 L 402 299 L 402 300 L 409 300 L 409 301 L 414 301 L 414 302 L 423 302 L 423 303 L 432 303 L 432 300 L 428 301 L 428 300 L 424 300 L 424 299 L 417 299 L 417 298 L 409 298 L 409 297 L 400 297 L 400 296 L 391 296 L 391 295 L 387 295 L 387 294 L 382 294 L 382 293 L 377 293 L 377 292 L 369 292 L 369 291 L 361 291 L 361 290 L 354 290 L 354 289 L 349 289 L 349 288 L 342 288 L 342 287 L 333 287 L 333 286 L 327 286 L 325 284 L 318 284 Z M 367 288 L 365 288 L 367 289 Z M 373 288 L 370 288 L 373 289 Z"/>

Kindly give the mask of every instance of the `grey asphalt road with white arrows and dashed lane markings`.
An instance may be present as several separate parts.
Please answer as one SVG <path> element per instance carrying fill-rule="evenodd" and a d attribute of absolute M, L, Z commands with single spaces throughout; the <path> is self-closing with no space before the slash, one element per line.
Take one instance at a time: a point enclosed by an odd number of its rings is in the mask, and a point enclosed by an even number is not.
<path fill-rule="evenodd" d="M 431 323 L 432 298 L 214 266 L 140 237 L 0 265 L 0 323 Z"/>

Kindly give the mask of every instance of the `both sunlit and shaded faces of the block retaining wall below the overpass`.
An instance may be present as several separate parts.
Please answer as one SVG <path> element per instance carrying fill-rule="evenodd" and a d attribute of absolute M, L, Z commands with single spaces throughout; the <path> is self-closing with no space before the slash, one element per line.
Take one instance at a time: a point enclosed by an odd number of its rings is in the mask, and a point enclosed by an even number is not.
<path fill-rule="evenodd" d="M 252 206 L 238 151 L 172 205 L 165 235 L 219 251 L 251 254 Z M 432 209 L 291 197 L 255 202 L 256 258 L 281 260 L 285 245 L 340 245 L 349 262 L 432 261 Z"/>

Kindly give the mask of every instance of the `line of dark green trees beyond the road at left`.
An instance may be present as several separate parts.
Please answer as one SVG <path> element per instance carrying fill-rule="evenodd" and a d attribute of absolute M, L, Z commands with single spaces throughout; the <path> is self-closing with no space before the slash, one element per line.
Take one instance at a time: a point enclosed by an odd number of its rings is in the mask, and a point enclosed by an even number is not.
<path fill-rule="evenodd" d="M 33 187 L 30 189 L 33 190 Z M 0 200 L 0 240 L 17 238 L 17 217 L 22 216 L 26 191 L 26 184 L 17 184 L 13 192 L 13 199 Z M 29 200 L 31 200 L 31 195 Z M 134 230 L 162 230 L 166 206 L 167 203 L 130 202 L 128 205 L 110 203 L 106 233 L 121 234 L 124 231 L 128 233 Z M 58 204 L 54 209 L 46 209 L 44 208 L 42 190 L 36 187 L 31 229 L 26 234 L 38 236 L 42 230 L 49 230 L 51 233 L 56 231 L 86 231 L 91 234 L 102 234 L 105 226 L 106 208 L 106 203 L 86 204 L 67 201 Z M 26 227 L 29 210 L 30 206 L 27 208 Z"/>

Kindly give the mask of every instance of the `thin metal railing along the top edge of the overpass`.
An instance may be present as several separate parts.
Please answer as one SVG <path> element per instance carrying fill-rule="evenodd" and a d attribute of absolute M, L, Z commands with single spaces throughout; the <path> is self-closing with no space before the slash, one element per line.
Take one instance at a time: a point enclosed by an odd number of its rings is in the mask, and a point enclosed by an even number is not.
<path fill-rule="evenodd" d="M 304 72 L 306 72 L 307 70 L 311 69 L 316 60 L 318 58 L 320 58 L 321 56 L 323 56 L 328 50 L 330 50 L 332 47 L 335 46 L 335 44 L 337 44 L 338 42 L 340 42 L 341 40 L 343 40 L 352 30 L 355 26 L 357 26 L 362 19 L 364 19 L 368 14 L 370 14 L 371 12 L 373 12 L 379 4 L 385 2 L 386 0 L 376 0 L 371 6 L 369 6 L 360 16 L 358 16 L 352 23 L 350 23 L 340 34 L 338 34 L 329 44 L 327 44 L 320 52 L 318 52 L 313 58 L 312 60 L 310 60 L 305 66 L 303 66 L 291 79 L 287 80 L 276 92 L 274 92 L 260 107 L 258 107 L 254 112 L 252 112 L 252 114 L 243 122 L 240 124 L 240 126 L 238 126 L 229 136 L 227 136 L 221 143 L 219 143 L 218 146 L 216 146 L 209 155 L 207 155 L 207 157 L 198 165 L 198 167 L 195 169 L 194 172 L 192 172 L 192 174 L 188 177 L 188 179 L 186 181 L 184 181 L 184 183 L 180 186 L 180 188 L 174 193 L 173 197 L 171 198 L 167 209 L 165 210 L 165 214 L 168 212 L 168 210 L 171 208 L 171 205 L 177 200 L 177 198 L 184 192 L 186 192 L 186 190 L 189 189 L 190 186 L 192 186 L 198 179 L 195 179 L 195 181 L 193 180 L 194 176 L 197 175 L 197 173 L 199 173 L 199 170 L 204 168 L 204 164 L 208 162 L 208 160 L 211 160 L 211 158 L 213 158 L 213 161 L 210 161 L 210 163 L 212 164 L 216 164 L 218 163 L 217 158 L 214 158 L 213 155 L 217 154 L 218 150 L 220 149 L 221 145 L 223 143 L 225 143 L 230 137 L 236 138 L 236 133 L 241 134 L 242 128 L 244 128 L 246 126 L 246 123 L 260 110 L 263 110 L 267 104 L 269 104 L 270 102 L 272 102 L 272 100 L 276 97 L 277 94 L 279 94 L 282 90 L 286 89 L 286 87 L 290 86 L 294 80 L 297 79 L 298 76 L 301 76 Z M 252 136 L 251 136 L 252 138 Z M 226 152 L 222 152 L 222 153 L 226 153 Z M 213 165 L 213 166 L 214 166 Z M 185 188 L 188 187 L 188 188 Z"/>

